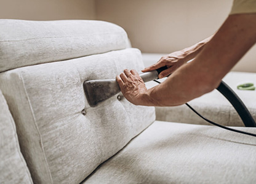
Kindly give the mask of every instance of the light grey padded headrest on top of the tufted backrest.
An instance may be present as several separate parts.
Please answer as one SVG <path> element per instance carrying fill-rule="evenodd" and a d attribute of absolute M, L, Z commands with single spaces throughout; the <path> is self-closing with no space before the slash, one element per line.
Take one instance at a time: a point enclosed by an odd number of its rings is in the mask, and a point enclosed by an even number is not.
<path fill-rule="evenodd" d="M 0 72 L 126 48 L 127 34 L 105 21 L 0 20 Z"/>

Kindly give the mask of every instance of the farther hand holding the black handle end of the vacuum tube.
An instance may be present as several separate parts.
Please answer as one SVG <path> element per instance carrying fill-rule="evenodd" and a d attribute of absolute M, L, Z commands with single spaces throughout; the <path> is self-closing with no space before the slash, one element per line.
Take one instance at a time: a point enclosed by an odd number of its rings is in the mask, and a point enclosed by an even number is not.
<path fill-rule="evenodd" d="M 159 79 L 166 77 L 167 75 L 172 74 L 174 71 L 178 69 L 178 67 L 182 66 L 184 63 L 186 63 L 188 59 L 186 58 L 186 53 L 183 50 L 170 53 L 169 55 L 162 56 L 159 61 L 149 67 L 146 67 L 142 70 L 142 72 L 149 72 L 156 69 L 159 69 L 160 67 L 167 66 L 167 69 L 162 71 L 158 77 Z"/>

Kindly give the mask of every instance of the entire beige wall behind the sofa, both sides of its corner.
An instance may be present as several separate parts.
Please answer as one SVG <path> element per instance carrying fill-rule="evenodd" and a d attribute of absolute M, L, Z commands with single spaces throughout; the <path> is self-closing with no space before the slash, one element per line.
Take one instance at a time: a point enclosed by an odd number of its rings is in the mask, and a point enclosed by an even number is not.
<path fill-rule="evenodd" d="M 170 53 L 213 34 L 233 0 L 0 0 L 0 18 L 97 19 L 126 29 L 133 47 Z M 235 67 L 256 72 L 256 46 Z"/>

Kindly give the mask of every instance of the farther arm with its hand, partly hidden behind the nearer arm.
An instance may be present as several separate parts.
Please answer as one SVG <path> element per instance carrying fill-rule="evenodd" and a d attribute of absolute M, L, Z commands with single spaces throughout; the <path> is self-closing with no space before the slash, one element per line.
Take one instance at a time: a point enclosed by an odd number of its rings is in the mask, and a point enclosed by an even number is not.
<path fill-rule="evenodd" d="M 204 46 L 209 42 L 210 39 L 212 39 L 213 36 L 214 35 L 207 37 L 201 42 L 198 42 L 197 44 L 194 44 L 190 47 L 169 53 L 166 56 L 162 56 L 162 58 L 160 58 L 157 63 L 149 67 L 146 67 L 142 70 L 142 72 L 149 72 L 158 69 L 159 67 L 167 66 L 167 69 L 162 71 L 158 75 L 159 79 L 172 74 L 174 71 L 178 69 L 178 67 L 195 58 L 196 55 L 198 55 L 198 53 L 201 52 L 202 48 L 204 48 Z"/>

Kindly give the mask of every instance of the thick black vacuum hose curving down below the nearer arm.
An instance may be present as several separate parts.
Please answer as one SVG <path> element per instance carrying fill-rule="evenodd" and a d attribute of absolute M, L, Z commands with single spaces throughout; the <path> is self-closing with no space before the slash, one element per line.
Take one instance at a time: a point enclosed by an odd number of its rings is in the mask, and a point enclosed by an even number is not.
<path fill-rule="evenodd" d="M 238 112 L 239 116 L 242 119 L 242 122 L 244 122 L 244 126 L 247 127 L 256 127 L 256 123 L 254 121 L 254 118 L 250 114 L 249 110 L 247 109 L 246 105 L 241 101 L 241 99 L 238 97 L 236 93 L 228 86 L 225 82 L 221 82 L 220 85 L 217 88 L 220 93 L 225 96 L 228 101 L 233 105 L 234 109 L 236 109 L 236 112 Z"/>

